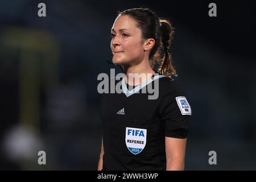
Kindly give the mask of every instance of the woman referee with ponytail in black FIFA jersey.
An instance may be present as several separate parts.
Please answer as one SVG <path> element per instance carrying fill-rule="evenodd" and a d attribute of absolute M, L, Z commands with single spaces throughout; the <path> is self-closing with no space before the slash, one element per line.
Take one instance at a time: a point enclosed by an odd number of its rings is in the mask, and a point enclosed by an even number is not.
<path fill-rule="evenodd" d="M 123 93 L 101 95 L 98 170 L 183 170 L 191 107 L 171 78 L 177 76 L 168 53 L 171 23 L 150 9 L 128 9 L 111 32 L 113 63 L 126 77 Z M 135 79 L 135 73 L 146 76 Z M 153 84 L 156 98 L 138 93 Z"/>

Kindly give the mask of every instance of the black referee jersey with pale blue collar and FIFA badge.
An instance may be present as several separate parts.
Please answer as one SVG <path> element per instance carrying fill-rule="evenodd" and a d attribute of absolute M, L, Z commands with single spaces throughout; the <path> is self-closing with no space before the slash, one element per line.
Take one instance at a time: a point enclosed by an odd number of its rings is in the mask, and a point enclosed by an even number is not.
<path fill-rule="evenodd" d="M 158 74 L 142 84 L 154 88 L 158 80 L 157 99 L 149 100 L 142 85 L 129 90 L 125 79 L 123 93 L 101 94 L 103 171 L 165 170 L 165 137 L 187 138 L 191 107 L 185 93 L 176 80 Z"/>

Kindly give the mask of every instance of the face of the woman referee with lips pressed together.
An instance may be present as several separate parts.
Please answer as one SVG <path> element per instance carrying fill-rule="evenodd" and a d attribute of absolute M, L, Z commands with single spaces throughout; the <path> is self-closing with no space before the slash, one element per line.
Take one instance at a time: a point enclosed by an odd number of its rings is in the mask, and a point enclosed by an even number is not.
<path fill-rule="evenodd" d="M 143 59 L 142 32 L 134 19 L 128 15 L 118 16 L 111 34 L 110 46 L 115 64 L 131 65 Z"/>

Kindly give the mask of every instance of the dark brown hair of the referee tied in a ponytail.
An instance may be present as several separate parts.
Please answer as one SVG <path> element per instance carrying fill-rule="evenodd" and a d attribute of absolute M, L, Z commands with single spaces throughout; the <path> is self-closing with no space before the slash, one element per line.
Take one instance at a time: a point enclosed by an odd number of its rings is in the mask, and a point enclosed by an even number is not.
<path fill-rule="evenodd" d="M 157 67 L 160 73 L 168 77 L 177 76 L 171 54 L 168 52 L 174 34 L 170 20 L 159 19 L 158 15 L 148 8 L 127 9 L 118 12 L 118 16 L 120 15 L 129 15 L 138 23 L 137 27 L 142 31 L 142 39 L 155 39 L 155 45 L 148 57 L 151 67 Z"/>

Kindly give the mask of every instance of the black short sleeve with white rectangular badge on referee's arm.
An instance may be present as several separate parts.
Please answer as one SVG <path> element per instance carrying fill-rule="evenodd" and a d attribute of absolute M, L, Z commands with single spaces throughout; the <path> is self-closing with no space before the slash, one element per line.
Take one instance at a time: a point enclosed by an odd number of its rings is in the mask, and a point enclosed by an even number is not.
<path fill-rule="evenodd" d="M 187 138 L 191 106 L 177 81 L 170 81 L 167 93 L 160 104 L 166 137 Z"/>

